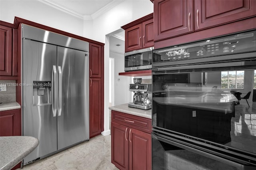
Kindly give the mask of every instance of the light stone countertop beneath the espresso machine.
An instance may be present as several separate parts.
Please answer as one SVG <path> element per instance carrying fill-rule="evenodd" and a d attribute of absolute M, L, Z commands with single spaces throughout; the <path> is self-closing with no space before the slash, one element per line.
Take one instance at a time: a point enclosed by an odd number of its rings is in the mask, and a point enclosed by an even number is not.
<path fill-rule="evenodd" d="M 122 104 L 122 105 L 111 106 L 108 109 L 113 110 L 113 111 L 122 112 L 122 113 L 127 113 L 130 115 L 135 115 L 135 116 L 152 119 L 152 113 L 151 113 L 152 109 L 143 110 L 143 109 L 128 107 L 128 103 Z"/>

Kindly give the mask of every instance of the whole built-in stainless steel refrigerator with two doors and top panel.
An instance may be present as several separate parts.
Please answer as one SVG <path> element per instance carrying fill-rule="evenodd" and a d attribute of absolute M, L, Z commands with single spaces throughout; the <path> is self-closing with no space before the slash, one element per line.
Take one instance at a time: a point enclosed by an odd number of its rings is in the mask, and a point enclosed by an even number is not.
<path fill-rule="evenodd" d="M 89 43 L 22 25 L 23 165 L 89 139 Z"/>

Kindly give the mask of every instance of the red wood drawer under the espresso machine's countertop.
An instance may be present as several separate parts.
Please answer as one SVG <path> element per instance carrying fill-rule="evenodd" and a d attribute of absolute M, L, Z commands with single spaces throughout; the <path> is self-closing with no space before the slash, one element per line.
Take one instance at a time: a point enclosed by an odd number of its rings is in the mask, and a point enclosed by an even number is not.
<path fill-rule="evenodd" d="M 152 120 L 144 117 L 129 115 L 118 111 L 111 111 L 111 121 L 146 133 L 152 132 Z"/>

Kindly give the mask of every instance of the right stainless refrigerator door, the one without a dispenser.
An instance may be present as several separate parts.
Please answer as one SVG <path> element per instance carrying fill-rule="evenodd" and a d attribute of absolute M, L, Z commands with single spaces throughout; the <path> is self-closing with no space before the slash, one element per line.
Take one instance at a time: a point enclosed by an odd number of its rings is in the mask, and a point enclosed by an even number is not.
<path fill-rule="evenodd" d="M 58 150 L 89 139 L 89 59 L 85 54 L 57 48 Z"/>

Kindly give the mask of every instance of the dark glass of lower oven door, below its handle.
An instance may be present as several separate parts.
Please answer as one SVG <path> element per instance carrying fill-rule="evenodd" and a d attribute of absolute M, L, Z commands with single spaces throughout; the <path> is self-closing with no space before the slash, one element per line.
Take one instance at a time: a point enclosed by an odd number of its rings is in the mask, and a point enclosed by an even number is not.
<path fill-rule="evenodd" d="M 237 170 L 236 167 L 152 138 L 153 170 Z"/>

